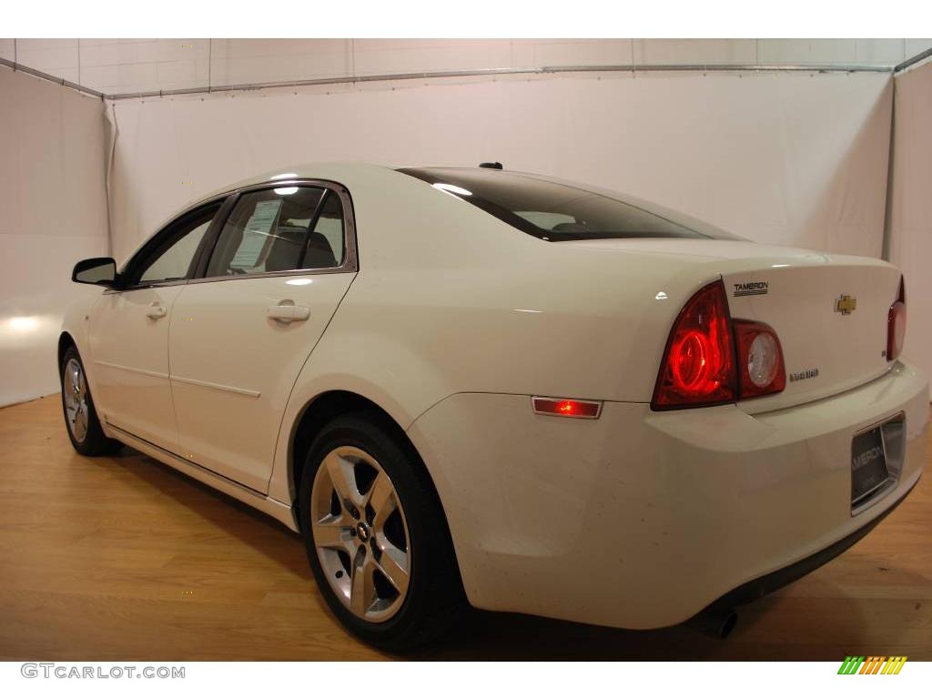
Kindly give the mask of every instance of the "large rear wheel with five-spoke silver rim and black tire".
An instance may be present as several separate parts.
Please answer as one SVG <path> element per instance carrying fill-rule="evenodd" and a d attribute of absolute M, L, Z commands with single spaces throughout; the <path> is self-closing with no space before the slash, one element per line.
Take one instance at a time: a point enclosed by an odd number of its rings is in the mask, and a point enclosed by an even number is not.
<path fill-rule="evenodd" d="M 350 493 L 342 502 L 341 490 Z M 443 635 L 467 607 L 436 490 L 390 419 L 351 413 L 323 427 L 308 449 L 298 498 L 314 578 L 356 637 L 403 651 Z M 399 572 L 405 568 L 406 579 Z M 391 583 L 391 576 L 404 585 Z"/>

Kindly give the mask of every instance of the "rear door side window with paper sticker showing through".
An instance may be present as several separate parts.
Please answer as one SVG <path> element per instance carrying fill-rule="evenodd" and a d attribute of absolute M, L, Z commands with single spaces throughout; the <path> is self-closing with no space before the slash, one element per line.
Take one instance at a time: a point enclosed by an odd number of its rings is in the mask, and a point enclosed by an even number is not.
<path fill-rule="evenodd" d="M 339 267 L 342 216 L 336 193 L 320 187 L 243 194 L 217 239 L 205 276 Z"/>

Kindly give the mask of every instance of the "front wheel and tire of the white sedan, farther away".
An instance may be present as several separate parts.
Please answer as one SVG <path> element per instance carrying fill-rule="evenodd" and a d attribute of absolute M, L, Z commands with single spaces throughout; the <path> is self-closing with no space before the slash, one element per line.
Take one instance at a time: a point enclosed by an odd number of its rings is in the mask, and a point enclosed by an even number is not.
<path fill-rule="evenodd" d="M 59 370 L 65 430 L 75 451 L 86 457 L 116 453 L 122 445 L 103 433 L 90 395 L 84 363 L 74 345 L 65 349 Z"/>

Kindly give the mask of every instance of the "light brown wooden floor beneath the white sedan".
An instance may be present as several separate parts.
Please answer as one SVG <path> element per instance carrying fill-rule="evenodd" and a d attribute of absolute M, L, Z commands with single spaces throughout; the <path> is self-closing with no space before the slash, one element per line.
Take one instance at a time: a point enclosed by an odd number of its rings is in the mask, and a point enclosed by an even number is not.
<path fill-rule="evenodd" d="M 932 660 L 932 475 L 853 549 L 739 610 L 727 641 L 682 627 L 626 632 L 474 612 L 406 657 L 851 654 Z M 324 608 L 294 533 L 129 449 L 78 456 L 58 396 L 0 409 L 0 658 L 386 657 Z"/>

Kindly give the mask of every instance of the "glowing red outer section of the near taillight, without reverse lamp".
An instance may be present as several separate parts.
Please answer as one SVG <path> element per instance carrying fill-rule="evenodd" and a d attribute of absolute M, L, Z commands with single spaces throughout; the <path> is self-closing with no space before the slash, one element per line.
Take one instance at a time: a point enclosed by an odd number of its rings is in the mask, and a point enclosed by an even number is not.
<path fill-rule="evenodd" d="M 653 391 L 654 410 L 731 403 L 734 343 L 725 286 L 713 281 L 679 311 Z"/>

